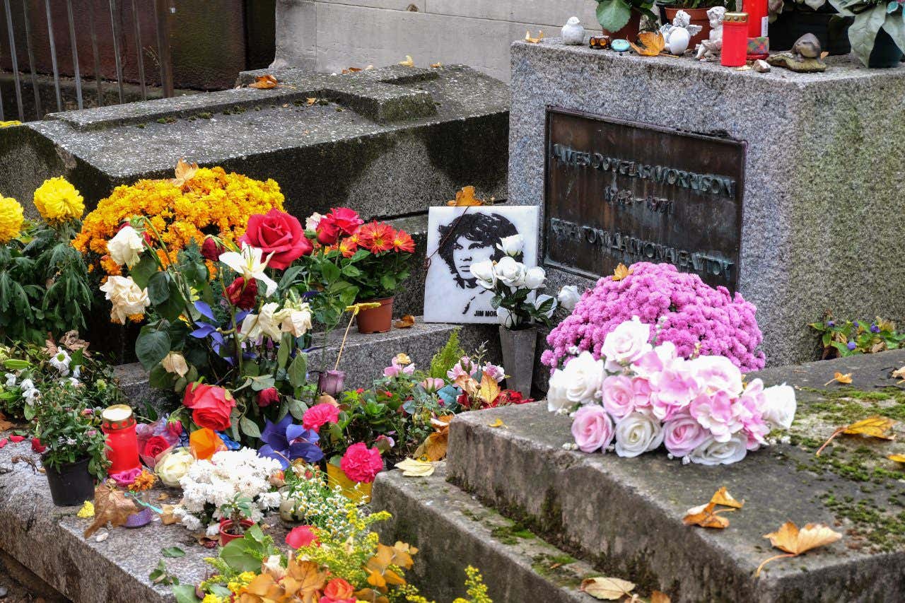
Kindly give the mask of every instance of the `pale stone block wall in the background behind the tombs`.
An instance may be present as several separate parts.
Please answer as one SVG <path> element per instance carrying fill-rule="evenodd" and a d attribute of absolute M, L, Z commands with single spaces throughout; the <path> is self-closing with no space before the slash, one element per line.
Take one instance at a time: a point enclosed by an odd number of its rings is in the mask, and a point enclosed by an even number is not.
<path fill-rule="evenodd" d="M 594 0 L 278 0 L 278 61 L 319 72 L 462 63 L 510 79 L 510 43 L 525 30 L 558 35 L 576 15 L 598 30 Z M 468 43 L 463 43 L 467 40 Z"/>

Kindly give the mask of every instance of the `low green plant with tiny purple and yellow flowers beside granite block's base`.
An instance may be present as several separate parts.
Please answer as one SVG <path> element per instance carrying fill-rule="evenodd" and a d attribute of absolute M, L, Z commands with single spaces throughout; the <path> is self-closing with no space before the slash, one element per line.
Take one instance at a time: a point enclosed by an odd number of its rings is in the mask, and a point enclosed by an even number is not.
<path fill-rule="evenodd" d="M 827 312 L 823 321 L 809 325 L 820 334 L 824 359 L 872 354 L 898 349 L 905 341 L 905 333 L 896 330 L 895 323 L 879 316 L 876 321 L 837 321 Z"/>

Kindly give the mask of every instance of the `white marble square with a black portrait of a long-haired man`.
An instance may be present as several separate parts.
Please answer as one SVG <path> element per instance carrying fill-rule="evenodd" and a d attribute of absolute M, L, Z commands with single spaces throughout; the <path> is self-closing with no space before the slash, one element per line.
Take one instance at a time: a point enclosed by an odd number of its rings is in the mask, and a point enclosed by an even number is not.
<path fill-rule="evenodd" d="M 500 238 L 522 235 L 525 251 L 516 258 L 538 265 L 538 207 L 431 207 L 427 219 L 425 322 L 497 322 L 493 293 L 469 271 L 472 263 L 499 260 Z"/>

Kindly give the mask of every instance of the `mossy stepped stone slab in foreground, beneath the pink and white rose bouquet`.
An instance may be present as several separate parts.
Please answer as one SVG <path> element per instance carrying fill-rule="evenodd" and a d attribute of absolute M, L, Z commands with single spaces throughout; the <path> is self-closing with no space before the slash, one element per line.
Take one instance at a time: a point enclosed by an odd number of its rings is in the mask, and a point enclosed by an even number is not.
<path fill-rule="evenodd" d="M 750 376 L 795 386 L 798 412 L 788 444 L 732 465 L 683 465 L 662 448 L 636 458 L 567 451 L 571 420 L 543 402 L 465 413 L 452 421 L 440 474 L 380 474 L 374 505 L 394 513 L 386 541 L 424 551 L 414 574 L 443 600 L 472 564 L 495 601 L 591 601 L 577 587 L 592 576 L 628 579 L 639 594 L 659 589 L 676 603 L 900 601 L 905 470 L 886 456 L 905 443 L 840 436 L 814 453 L 838 426 L 905 418 L 905 387 L 891 378 L 902 365 L 905 350 L 895 350 Z M 824 385 L 835 371 L 852 373 L 852 386 Z M 497 419 L 504 426 L 491 426 Z M 729 527 L 683 525 L 720 486 L 744 500 L 726 513 Z M 764 534 L 786 521 L 825 523 L 843 538 L 775 560 L 755 578 L 761 561 L 783 552 Z"/>

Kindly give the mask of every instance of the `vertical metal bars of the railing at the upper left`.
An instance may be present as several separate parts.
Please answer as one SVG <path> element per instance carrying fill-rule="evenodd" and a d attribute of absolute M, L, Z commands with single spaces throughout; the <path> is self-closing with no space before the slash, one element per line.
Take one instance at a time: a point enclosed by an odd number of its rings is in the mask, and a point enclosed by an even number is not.
<path fill-rule="evenodd" d="M 148 81 L 146 80 L 145 60 L 146 53 L 152 59 L 152 63 L 157 63 L 160 72 L 159 83 L 162 88 L 164 97 L 173 96 L 173 67 L 171 62 L 170 43 L 169 43 L 169 18 L 168 14 L 175 11 L 171 5 L 172 0 L 77 0 L 78 12 L 73 14 L 72 0 L 2 0 L 3 14 L 6 22 L 6 43 L 0 39 L 0 60 L 8 60 L 13 77 L 13 87 L 15 95 L 15 106 L 20 121 L 25 120 L 24 106 L 24 85 L 25 78 L 30 76 L 31 89 L 34 96 L 35 113 L 40 119 L 43 114 L 42 98 L 39 80 L 43 75 L 43 69 L 46 64 L 40 64 L 40 58 L 36 56 L 36 52 L 50 51 L 50 71 L 52 72 L 53 91 L 55 93 L 56 109 L 62 111 L 64 109 L 62 93 L 61 93 L 61 65 L 58 59 L 58 42 L 68 41 L 71 51 L 71 72 L 65 76 L 70 76 L 75 88 L 75 104 L 78 109 L 85 106 L 85 94 L 91 96 L 96 94 L 97 106 L 105 104 L 105 84 L 112 85 L 112 81 L 105 81 L 103 70 L 101 67 L 101 53 L 109 51 L 102 42 L 110 40 L 112 45 L 113 62 L 116 72 L 116 86 L 119 96 L 119 103 L 126 102 L 126 91 L 123 73 L 123 62 L 127 57 L 124 55 L 124 41 L 129 35 L 134 36 L 132 46 L 134 47 L 134 59 L 137 68 L 136 77 L 132 79 L 138 84 L 140 90 L 140 99 L 148 98 Z M 18 12 L 16 4 L 21 3 L 22 11 Z M 153 4 L 153 7 L 151 6 Z M 42 6 L 43 5 L 43 6 Z M 62 12 L 65 6 L 65 23 L 57 23 L 54 21 L 54 14 Z M 98 10 L 102 7 L 103 10 Z M 43 10 L 40 10 L 42 9 Z M 129 14 L 130 15 L 127 15 Z M 130 18 L 126 18 L 129 16 Z M 153 21 L 156 38 L 156 48 L 154 46 L 144 46 L 142 43 L 142 19 Z M 79 40 L 76 35 L 77 26 L 83 27 L 87 21 L 90 36 L 90 56 L 91 64 L 84 63 L 87 53 L 82 48 L 80 58 Z M 124 23 L 131 22 L 132 31 L 124 31 Z M 45 29 L 42 33 L 46 34 L 46 38 L 37 34 L 34 30 L 36 25 L 44 25 Z M 148 24 L 145 23 L 148 31 Z M 109 38 L 104 36 L 110 33 Z M 25 53 L 28 62 L 28 73 L 20 72 L 20 54 L 22 54 L 22 42 L 24 34 Z M 17 48 L 17 43 L 19 47 Z M 82 41 L 84 45 L 84 41 Z M 64 46 L 62 46 L 64 48 Z M 46 58 L 46 57 L 43 57 Z M 68 57 L 65 57 L 68 59 Z M 86 80 L 86 69 L 91 73 L 92 77 Z M 153 67 L 153 65 L 152 65 Z M 50 75 L 49 73 L 47 74 Z M 153 76 L 152 76 L 153 77 Z M 84 89 L 85 84 L 91 84 L 93 80 L 93 92 Z M 157 84 L 157 81 L 152 82 Z M 107 104 L 110 104 L 108 100 Z M 49 112 L 49 111 L 48 111 Z M 5 120 L 3 90 L 0 88 L 0 121 Z"/>

